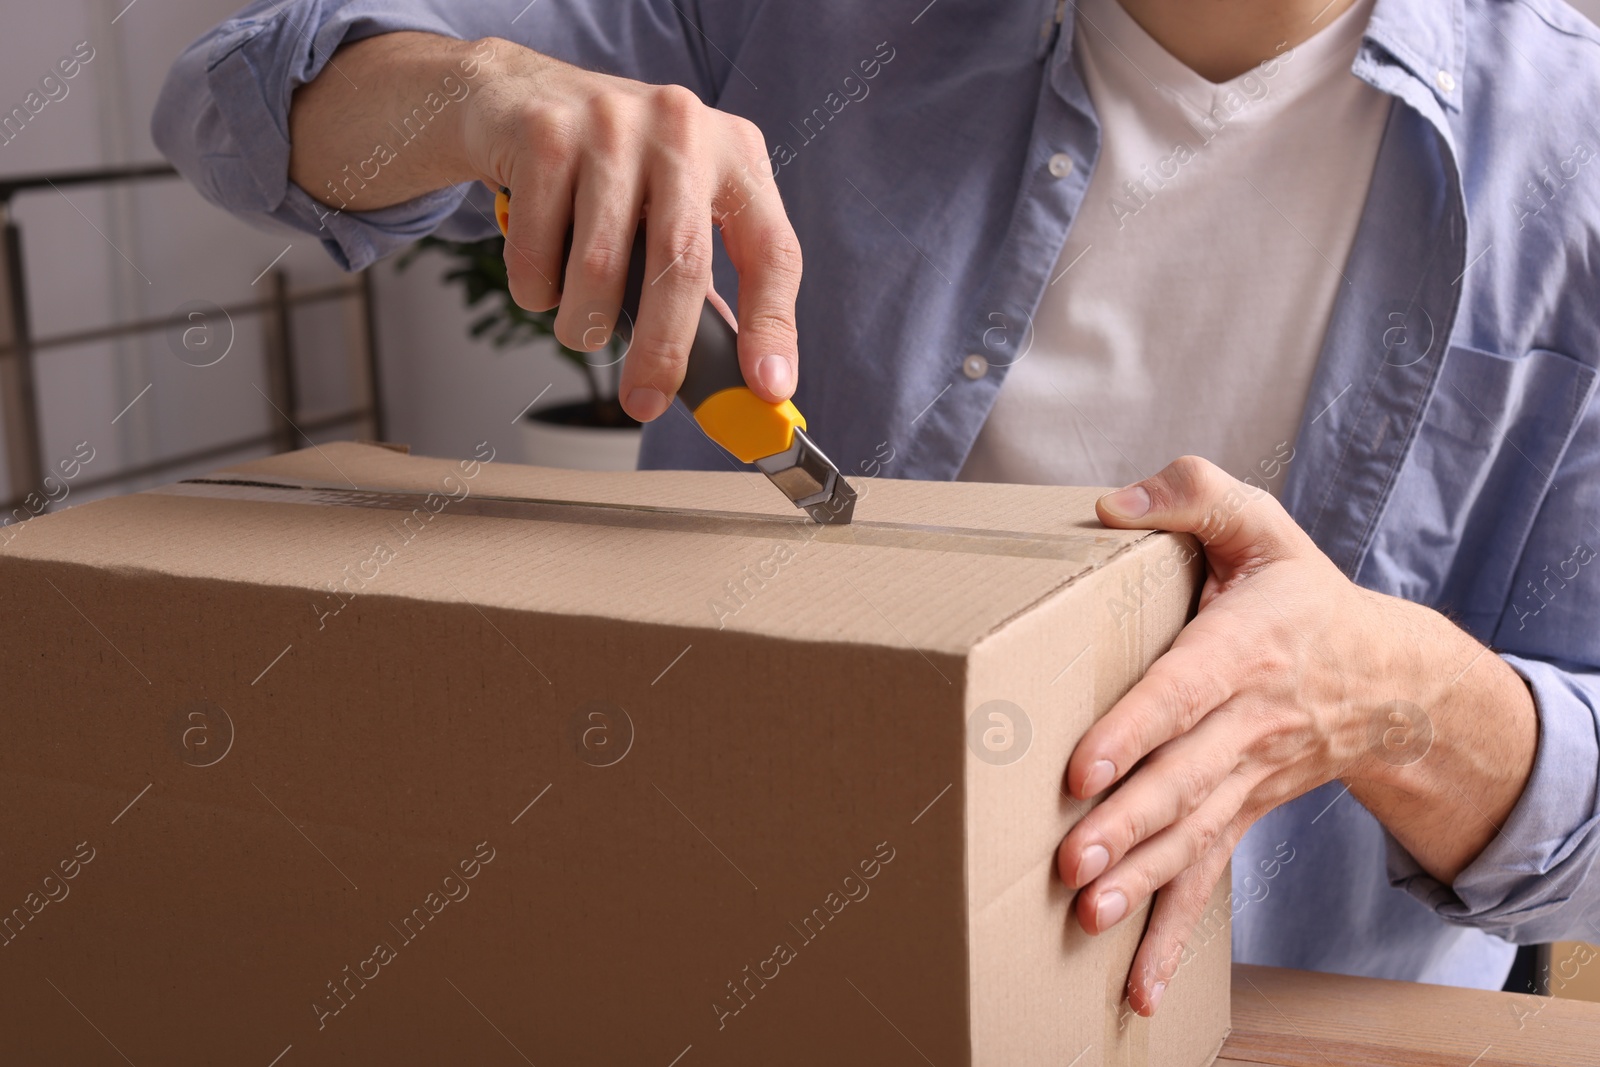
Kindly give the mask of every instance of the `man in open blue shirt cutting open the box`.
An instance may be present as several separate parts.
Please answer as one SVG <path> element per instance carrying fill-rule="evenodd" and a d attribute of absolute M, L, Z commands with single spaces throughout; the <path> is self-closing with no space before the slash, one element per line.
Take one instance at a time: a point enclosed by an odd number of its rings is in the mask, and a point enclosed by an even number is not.
<path fill-rule="evenodd" d="M 1558 0 L 291 0 L 155 136 L 352 269 L 512 189 L 512 293 L 579 349 L 645 213 L 646 466 L 723 462 L 658 419 L 715 278 L 846 472 L 1131 482 L 1102 522 L 1198 534 L 1058 854 L 1090 933 L 1154 896 L 1149 1014 L 1230 854 L 1248 961 L 1498 987 L 1595 934 L 1594 115 Z"/>

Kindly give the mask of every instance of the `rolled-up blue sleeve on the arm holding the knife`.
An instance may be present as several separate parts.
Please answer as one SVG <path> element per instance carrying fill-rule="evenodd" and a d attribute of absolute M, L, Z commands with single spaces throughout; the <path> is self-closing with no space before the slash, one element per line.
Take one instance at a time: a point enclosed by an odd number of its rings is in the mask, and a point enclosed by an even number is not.
<path fill-rule="evenodd" d="M 475 182 L 376 211 L 336 211 L 290 181 L 290 101 L 339 46 L 400 30 L 504 37 L 587 69 L 685 85 L 715 102 L 752 6 L 261 0 L 184 50 L 162 86 L 150 131 L 211 203 L 256 226 L 312 234 L 341 267 L 360 270 L 424 234 L 485 237 L 494 222 L 488 190 Z"/>

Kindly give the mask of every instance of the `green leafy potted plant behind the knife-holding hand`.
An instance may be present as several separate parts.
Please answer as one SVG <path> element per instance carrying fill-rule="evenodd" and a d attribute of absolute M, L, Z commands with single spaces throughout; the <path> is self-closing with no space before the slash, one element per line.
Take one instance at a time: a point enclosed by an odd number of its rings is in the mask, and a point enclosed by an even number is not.
<path fill-rule="evenodd" d="M 408 248 L 395 266 L 405 270 L 429 250 L 440 251 L 454 261 L 454 266 L 445 272 L 445 282 L 461 285 L 467 307 L 480 307 L 488 301 L 486 310 L 474 318 L 467 328 L 469 336 L 486 338 L 496 349 L 550 338 L 562 357 L 584 376 L 584 382 L 589 386 L 589 418 L 581 421 L 590 426 L 637 426 L 616 400 L 622 339 L 613 333 L 611 341 L 598 352 L 578 352 L 562 344 L 555 338 L 555 309 L 530 312 L 512 299 L 510 282 L 506 277 L 504 237 L 451 242 L 429 235 Z"/>

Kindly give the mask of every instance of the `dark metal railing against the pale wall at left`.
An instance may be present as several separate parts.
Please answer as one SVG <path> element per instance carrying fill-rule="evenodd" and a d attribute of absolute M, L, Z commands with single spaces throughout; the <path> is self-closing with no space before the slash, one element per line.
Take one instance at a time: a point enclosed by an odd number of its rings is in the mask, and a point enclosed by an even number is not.
<path fill-rule="evenodd" d="M 77 330 L 46 338 L 35 338 L 29 322 L 27 267 L 22 258 L 22 230 L 11 213 L 11 198 L 18 194 L 59 189 L 62 186 L 110 186 L 120 182 L 166 179 L 178 176 L 171 166 L 112 166 L 56 174 L 27 174 L 0 178 L 0 419 L 5 435 L 5 464 L 11 494 L 0 512 L 0 525 L 32 517 L 48 510 L 43 461 L 43 437 L 40 434 L 38 390 L 34 381 L 34 360 L 40 352 L 69 346 L 110 341 L 115 338 L 157 333 L 189 325 L 186 315 L 139 318 L 131 322 Z M 75 491 L 102 488 L 160 475 L 190 464 L 219 459 L 230 453 L 250 450 L 290 451 L 302 437 L 320 434 L 338 426 L 360 426 L 362 435 L 382 440 L 384 416 L 378 376 L 378 336 L 373 323 L 373 288 L 368 272 L 360 272 L 352 282 L 326 285 L 294 293 L 288 275 L 275 269 L 270 274 L 267 298 L 230 304 L 221 310 L 232 318 L 259 317 L 264 330 L 267 365 L 267 400 L 272 408 L 272 429 L 266 434 L 235 438 L 195 448 L 173 456 L 123 467 L 120 470 L 74 482 Z M 293 312 L 310 304 L 354 301 L 360 381 L 355 382 L 357 406 L 302 421 L 294 381 Z M 307 437 L 309 442 L 309 437 Z M 26 506 L 29 498 L 40 506 Z"/>

